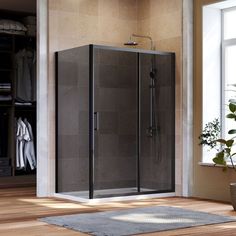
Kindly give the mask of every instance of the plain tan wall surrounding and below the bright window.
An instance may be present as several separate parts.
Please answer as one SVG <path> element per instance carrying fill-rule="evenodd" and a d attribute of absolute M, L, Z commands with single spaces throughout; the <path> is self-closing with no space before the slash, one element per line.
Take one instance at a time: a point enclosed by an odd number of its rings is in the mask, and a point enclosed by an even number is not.
<path fill-rule="evenodd" d="M 229 183 L 236 181 L 236 173 L 221 168 L 200 166 L 201 147 L 198 136 L 202 127 L 202 6 L 217 0 L 194 1 L 194 184 L 193 196 L 229 201 Z"/>

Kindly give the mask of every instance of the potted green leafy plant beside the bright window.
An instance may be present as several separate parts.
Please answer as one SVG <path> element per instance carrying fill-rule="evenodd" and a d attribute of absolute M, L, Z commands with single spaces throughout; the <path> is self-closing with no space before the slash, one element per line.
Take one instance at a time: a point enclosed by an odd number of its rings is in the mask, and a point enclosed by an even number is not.
<path fill-rule="evenodd" d="M 236 100 L 231 99 L 228 104 L 229 113 L 228 119 L 233 119 L 236 122 Z M 215 119 L 205 125 L 201 135 L 199 136 L 200 145 L 208 146 L 211 149 L 216 150 L 216 154 L 213 157 L 215 165 L 223 167 L 223 171 L 226 171 L 229 167 L 236 171 L 234 163 L 234 157 L 236 157 L 236 151 L 233 147 L 236 143 L 236 129 L 228 130 L 228 134 L 232 137 L 229 139 L 220 138 L 220 123 L 219 119 Z M 234 210 L 236 210 L 236 183 L 230 184 L 231 202 Z"/>

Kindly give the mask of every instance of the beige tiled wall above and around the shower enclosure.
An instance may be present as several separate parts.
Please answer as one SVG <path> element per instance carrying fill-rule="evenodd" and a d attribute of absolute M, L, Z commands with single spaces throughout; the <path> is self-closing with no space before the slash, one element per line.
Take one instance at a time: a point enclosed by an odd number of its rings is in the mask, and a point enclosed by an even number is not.
<path fill-rule="evenodd" d="M 54 52 L 85 44 L 123 47 L 132 33 L 176 53 L 176 190 L 182 183 L 182 0 L 48 0 L 50 160 L 55 159 Z M 139 47 L 149 49 L 142 41 Z M 52 170 L 52 173 L 54 170 Z"/>

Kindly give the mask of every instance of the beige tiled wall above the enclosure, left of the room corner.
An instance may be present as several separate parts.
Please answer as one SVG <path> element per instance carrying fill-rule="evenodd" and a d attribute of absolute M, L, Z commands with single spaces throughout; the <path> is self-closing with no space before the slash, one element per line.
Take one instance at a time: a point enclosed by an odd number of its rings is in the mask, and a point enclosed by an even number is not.
<path fill-rule="evenodd" d="M 121 46 L 136 29 L 136 0 L 49 0 L 50 52 L 89 43 Z"/>

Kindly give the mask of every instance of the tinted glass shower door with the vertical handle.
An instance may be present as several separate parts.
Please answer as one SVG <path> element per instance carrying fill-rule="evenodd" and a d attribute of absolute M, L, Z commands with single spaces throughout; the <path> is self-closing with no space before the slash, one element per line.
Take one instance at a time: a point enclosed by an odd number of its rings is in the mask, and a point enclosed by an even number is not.
<path fill-rule="evenodd" d="M 137 192 L 137 61 L 94 49 L 94 197 Z"/>

